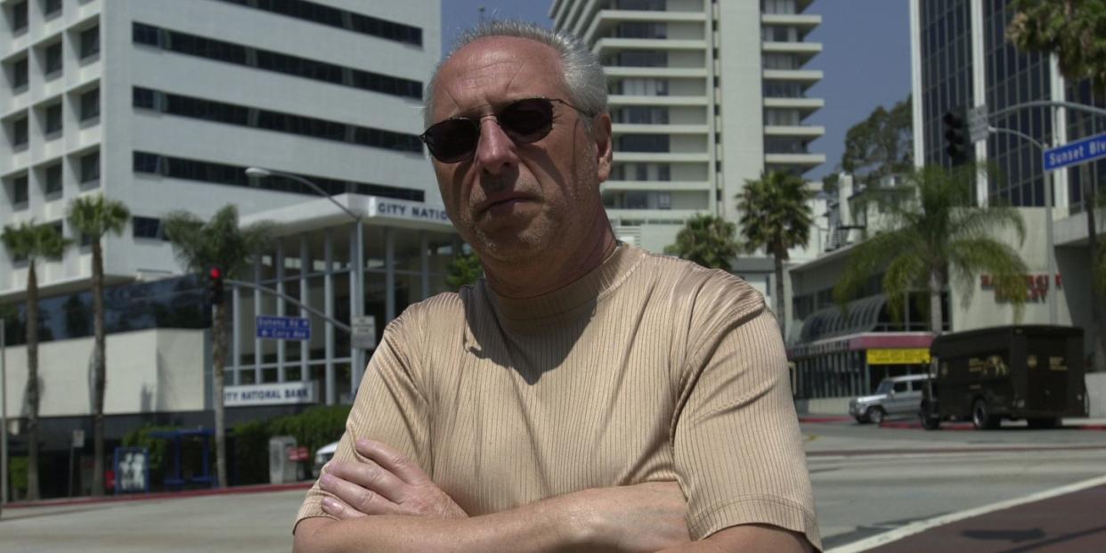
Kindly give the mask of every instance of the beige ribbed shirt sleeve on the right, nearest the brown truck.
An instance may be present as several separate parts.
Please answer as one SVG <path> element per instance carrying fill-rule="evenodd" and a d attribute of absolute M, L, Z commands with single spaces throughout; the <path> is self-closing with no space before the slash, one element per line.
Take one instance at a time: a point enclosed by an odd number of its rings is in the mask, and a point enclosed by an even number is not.
<path fill-rule="evenodd" d="M 692 317 L 697 338 L 682 367 L 672 437 L 688 529 L 701 540 L 738 524 L 771 524 L 821 549 L 780 328 L 760 294 L 740 285 L 744 293 L 697 300 Z"/>

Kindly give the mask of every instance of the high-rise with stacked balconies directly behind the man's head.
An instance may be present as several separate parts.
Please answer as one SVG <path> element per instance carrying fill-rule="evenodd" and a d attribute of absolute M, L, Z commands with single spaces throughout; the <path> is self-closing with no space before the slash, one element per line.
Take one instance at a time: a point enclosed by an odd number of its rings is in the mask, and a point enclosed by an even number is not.
<path fill-rule="evenodd" d="M 697 213 L 737 218 L 745 179 L 825 161 L 804 121 L 822 79 L 807 0 L 554 0 L 607 74 L 614 167 L 603 200 L 616 233 L 661 251 Z"/>

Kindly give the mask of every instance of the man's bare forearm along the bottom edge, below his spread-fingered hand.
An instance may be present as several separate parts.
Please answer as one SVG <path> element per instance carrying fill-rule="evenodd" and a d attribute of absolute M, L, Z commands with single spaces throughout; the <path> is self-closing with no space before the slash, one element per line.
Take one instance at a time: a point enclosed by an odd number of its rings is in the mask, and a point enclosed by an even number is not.
<path fill-rule="evenodd" d="M 588 524 L 562 498 L 468 519 L 362 517 L 304 519 L 295 530 L 296 553 L 315 552 L 518 552 L 563 551 L 587 541 Z"/>

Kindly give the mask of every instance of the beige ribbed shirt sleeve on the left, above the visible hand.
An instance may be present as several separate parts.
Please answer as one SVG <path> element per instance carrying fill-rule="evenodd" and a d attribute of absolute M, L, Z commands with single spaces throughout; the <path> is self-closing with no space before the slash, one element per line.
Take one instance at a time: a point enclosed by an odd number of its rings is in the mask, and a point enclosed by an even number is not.
<path fill-rule="evenodd" d="M 388 324 L 380 345 L 368 362 L 346 419 L 345 434 L 332 458 L 334 461 L 364 460 L 354 449 L 354 442 L 369 438 L 396 448 L 422 469 L 428 467 L 427 404 L 415 374 L 418 358 L 410 355 L 413 346 L 421 342 L 413 335 L 415 328 L 404 319 L 400 316 Z M 328 517 L 322 509 L 323 498 L 327 495 L 331 494 L 322 491 L 316 481 L 307 491 L 295 523 L 311 517 Z"/>

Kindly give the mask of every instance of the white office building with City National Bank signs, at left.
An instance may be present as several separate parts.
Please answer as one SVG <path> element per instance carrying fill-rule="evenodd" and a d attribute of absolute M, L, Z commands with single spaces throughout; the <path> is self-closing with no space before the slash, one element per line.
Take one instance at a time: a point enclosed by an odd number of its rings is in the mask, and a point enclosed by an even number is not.
<path fill-rule="evenodd" d="M 52 223 L 75 241 L 61 261 L 36 265 L 48 456 L 91 409 L 91 251 L 65 220 L 81 195 L 132 213 L 122 237 L 104 239 L 108 440 L 152 420 L 210 424 L 204 284 L 182 275 L 164 240 L 170 210 L 207 219 L 230 204 L 244 222 L 278 221 L 252 280 L 340 321 L 372 314 L 383 330 L 441 290 L 456 236 L 417 138 L 440 11 L 438 0 L 0 1 L 0 225 Z M 352 218 L 294 179 L 247 178 L 248 167 L 307 179 L 364 220 L 364 293 L 351 279 Z M 25 414 L 27 276 L 25 260 L 0 251 L 0 310 L 15 311 L 9 417 Z M 228 385 L 349 398 L 365 352 L 344 332 L 310 315 L 310 341 L 253 340 L 255 314 L 307 313 L 251 291 L 228 295 L 238 311 Z M 230 409 L 229 421 L 247 411 Z"/>

